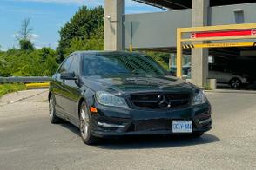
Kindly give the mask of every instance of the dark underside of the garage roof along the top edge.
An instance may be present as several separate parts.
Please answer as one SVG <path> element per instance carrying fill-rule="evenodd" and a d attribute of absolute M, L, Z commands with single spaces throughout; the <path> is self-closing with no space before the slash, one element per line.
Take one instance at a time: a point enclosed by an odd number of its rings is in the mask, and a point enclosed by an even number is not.
<path fill-rule="evenodd" d="M 192 0 L 133 0 L 158 8 L 180 10 L 192 8 Z M 223 6 L 239 3 L 256 3 L 256 0 L 210 0 L 210 6 Z"/>

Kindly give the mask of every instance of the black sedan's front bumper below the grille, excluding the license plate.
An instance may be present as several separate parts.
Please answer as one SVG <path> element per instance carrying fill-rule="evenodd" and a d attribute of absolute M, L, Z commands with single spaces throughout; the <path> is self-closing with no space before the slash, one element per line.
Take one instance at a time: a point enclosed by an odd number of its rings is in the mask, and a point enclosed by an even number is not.
<path fill-rule="evenodd" d="M 203 133 L 212 128 L 209 103 L 169 110 L 95 107 L 98 108 L 98 114 L 91 116 L 91 133 L 98 137 L 174 134 L 173 120 L 192 121 L 193 133 Z"/>

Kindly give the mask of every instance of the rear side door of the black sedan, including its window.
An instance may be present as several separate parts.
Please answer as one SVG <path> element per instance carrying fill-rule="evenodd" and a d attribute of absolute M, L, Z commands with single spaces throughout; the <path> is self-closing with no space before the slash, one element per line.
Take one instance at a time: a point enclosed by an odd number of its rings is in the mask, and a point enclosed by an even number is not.
<path fill-rule="evenodd" d="M 61 64 L 59 69 L 57 69 L 57 72 L 55 75 L 53 75 L 53 82 L 52 82 L 52 93 L 55 96 L 56 99 L 56 111 L 59 114 L 65 114 L 64 112 L 64 104 L 63 104 L 63 98 L 64 98 L 64 80 L 61 79 L 60 75 L 63 72 L 67 72 L 68 69 L 71 67 L 72 62 L 71 57 L 67 57 L 64 62 Z"/>

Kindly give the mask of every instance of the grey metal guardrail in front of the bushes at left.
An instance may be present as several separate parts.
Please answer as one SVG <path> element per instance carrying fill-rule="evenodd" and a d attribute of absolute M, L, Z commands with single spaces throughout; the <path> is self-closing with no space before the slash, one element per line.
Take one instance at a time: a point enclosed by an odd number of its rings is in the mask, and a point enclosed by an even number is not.
<path fill-rule="evenodd" d="M 11 83 L 11 82 L 50 82 L 51 77 L 48 76 L 11 76 L 1 77 L 0 83 Z"/>

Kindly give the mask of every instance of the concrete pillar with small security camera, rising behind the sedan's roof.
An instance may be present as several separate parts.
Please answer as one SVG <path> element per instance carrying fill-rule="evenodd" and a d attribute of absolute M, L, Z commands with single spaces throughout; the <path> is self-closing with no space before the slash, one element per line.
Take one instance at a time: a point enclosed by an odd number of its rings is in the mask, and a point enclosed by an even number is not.
<path fill-rule="evenodd" d="M 124 0 L 104 0 L 104 49 L 122 50 Z"/>

